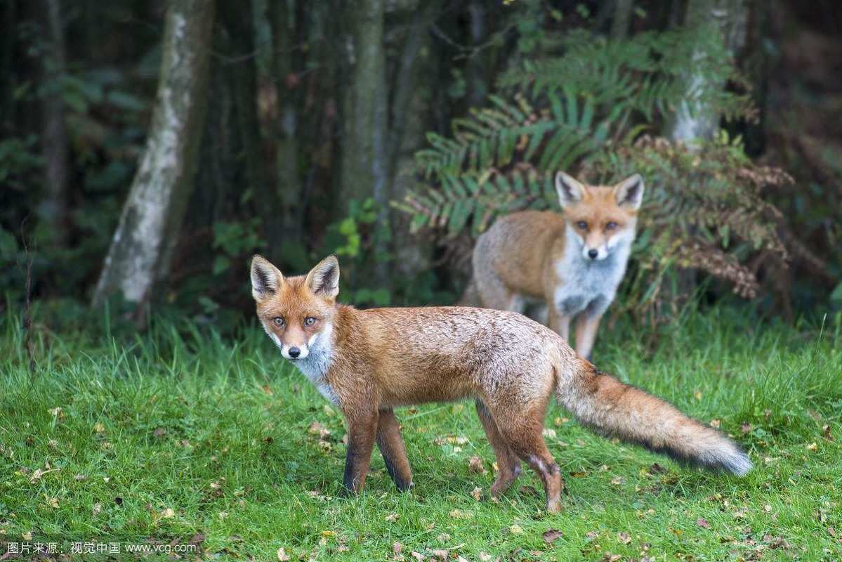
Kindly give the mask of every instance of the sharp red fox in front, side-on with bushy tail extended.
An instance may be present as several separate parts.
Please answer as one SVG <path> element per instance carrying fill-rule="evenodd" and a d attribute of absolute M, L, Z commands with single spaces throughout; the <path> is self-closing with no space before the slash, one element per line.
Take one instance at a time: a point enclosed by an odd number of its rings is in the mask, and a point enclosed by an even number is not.
<path fill-rule="evenodd" d="M 380 447 L 398 489 L 413 482 L 392 409 L 474 399 L 499 467 L 493 495 L 524 461 L 541 477 L 546 510 L 561 508 L 562 475 L 541 431 L 553 394 L 585 426 L 708 468 L 746 474 L 748 456 L 719 431 L 621 383 L 576 355 L 552 330 L 488 308 L 373 308 L 338 304 L 333 256 L 306 276 L 285 277 L 260 256 L 252 294 L 266 333 L 348 424 L 344 485 L 365 483 Z"/>

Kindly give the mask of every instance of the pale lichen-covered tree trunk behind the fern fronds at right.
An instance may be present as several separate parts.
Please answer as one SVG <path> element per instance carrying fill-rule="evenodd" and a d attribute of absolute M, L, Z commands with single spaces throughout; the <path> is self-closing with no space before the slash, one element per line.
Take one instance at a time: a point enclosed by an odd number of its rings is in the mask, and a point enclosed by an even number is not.
<path fill-rule="evenodd" d="M 729 51 L 736 51 L 745 39 L 744 0 L 689 0 L 685 25 L 691 29 L 711 26 L 722 35 Z M 707 56 L 701 48 L 696 50 L 694 62 Z M 719 115 L 695 100 L 695 92 L 724 88 L 723 83 L 711 83 L 701 74 L 688 77 L 687 99 L 679 106 L 669 127 L 669 137 L 674 141 L 711 138 L 719 126 Z"/>

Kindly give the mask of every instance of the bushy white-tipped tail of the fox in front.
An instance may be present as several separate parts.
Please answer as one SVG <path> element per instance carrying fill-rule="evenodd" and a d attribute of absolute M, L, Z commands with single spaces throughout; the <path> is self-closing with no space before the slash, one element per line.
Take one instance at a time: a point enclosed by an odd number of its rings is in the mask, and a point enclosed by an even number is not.
<path fill-rule="evenodd" d="M 561 378 L 557 395 L 584 426 L 706 468 L 739 476 L 752 468 L 749 456 L 719 431 L 598 371 L 588 361 L 582 366 L 573 376 Z"/>

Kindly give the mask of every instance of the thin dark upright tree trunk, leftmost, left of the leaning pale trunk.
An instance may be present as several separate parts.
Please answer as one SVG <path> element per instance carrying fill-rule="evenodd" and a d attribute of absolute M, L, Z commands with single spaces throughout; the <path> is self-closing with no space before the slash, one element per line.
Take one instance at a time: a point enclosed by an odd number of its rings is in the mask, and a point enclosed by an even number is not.
<path fill-rule="evenodd" d="M 61 2 L 46 0 L 45 17 L 50 48 L 45 57 L 45 96 L 43 99 L 43 134 L 41 142 L 45 159 L 45 195 L 40 214 L 50 224 L 55 244 L 67 242 L 67 131 L 64 126 L 64 100 L 61 77 L 67 72 L 64 24 Z"/>

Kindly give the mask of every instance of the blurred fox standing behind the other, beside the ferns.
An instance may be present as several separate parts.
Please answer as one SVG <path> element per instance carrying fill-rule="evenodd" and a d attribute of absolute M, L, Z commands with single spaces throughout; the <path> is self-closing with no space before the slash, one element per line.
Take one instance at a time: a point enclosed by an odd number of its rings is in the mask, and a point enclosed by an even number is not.
<path fill-rule="evenodd" d="M 564 340 L 576 318 L 576 352 L 590 359 L 600 320 L 626 274 L 643 179 L 634 174 L 594 186 L 559 172 L 555 187 L 561 215 L 513 212 L 477 238 L 461 303 L 519 313 L 536 305 L 536 319 Z"/>

